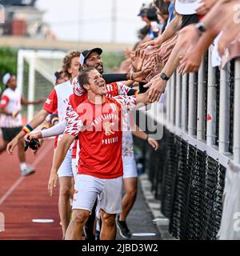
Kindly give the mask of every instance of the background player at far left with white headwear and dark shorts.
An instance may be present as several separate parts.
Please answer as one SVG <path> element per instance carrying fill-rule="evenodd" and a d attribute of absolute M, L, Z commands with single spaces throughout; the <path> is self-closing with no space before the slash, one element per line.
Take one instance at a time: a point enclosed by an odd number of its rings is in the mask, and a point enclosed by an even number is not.
<path fill-rule="evenodd" d="M 2 128 L 3 145 L 0 146 L 0 154 L 6 150 L 6 145 L 22 130 L 22 105 L 37 105 L 45 101 L 45 98 L 36 102 L 28 102 L 22 98 L 21 92 L 17 88 L 17 81 L 14 74 L 5 74 L 2 79 L 7 87 L 2 93 L 0 103 L 0 126 Z M 18 158 L 22 176 L 34 173 L 34 168 L 26 165 L 23 139 L 18 142 Z"/>

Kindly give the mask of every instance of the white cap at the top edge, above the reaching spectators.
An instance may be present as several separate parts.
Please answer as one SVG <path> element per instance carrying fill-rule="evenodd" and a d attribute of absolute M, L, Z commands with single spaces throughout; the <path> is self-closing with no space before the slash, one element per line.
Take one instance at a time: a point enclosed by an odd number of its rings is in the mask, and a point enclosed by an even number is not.
<path fill-rule="evenodd" d="M 176 0 L 175 10 L 178 14 L 190 15 L 196 14 L 199 6 L 199 0 Z"/>

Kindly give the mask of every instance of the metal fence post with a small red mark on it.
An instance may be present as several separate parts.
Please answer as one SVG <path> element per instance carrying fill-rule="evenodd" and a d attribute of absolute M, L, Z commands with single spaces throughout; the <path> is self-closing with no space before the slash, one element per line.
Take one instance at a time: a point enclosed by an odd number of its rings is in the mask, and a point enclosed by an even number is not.
<path fill-rule="evenodd" d="M 217 110 L 217 85 L 216 69 L 211 65 L 211 52 L 208 56 L 208 90 L 207 90 L 207 117 L 206 117 L 206 144 L 216 145 L 216 110 Z"/>

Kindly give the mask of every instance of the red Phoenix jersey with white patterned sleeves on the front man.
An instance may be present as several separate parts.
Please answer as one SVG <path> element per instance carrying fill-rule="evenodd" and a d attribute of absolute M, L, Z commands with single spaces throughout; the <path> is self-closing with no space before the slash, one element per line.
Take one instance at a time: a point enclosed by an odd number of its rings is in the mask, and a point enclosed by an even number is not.
<path fill-rule="evenodd" d="M 79 138 L 78 174 L 97 178 L 122 176 L 122 110 L 134 109 L 135 105 L 135 96 L 117 96 L 106 98 L 99 105 L 86 99 L 72 111 L 65 133 Z M 109 136 L 108 124 L 114 131 Z"/>

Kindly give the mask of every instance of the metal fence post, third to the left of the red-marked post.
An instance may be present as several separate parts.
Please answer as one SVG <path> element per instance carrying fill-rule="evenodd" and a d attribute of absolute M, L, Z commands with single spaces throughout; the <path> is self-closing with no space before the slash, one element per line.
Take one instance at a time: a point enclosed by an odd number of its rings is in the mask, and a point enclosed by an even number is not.
<path fill-rule="evenodd" d="M 181 118 L 181 127 L 183 131 L 187 130 L 187 113 L 186 113 L 186 106 L 187 106 L 187 74 L 182 76 L 182 118 Z"/>

